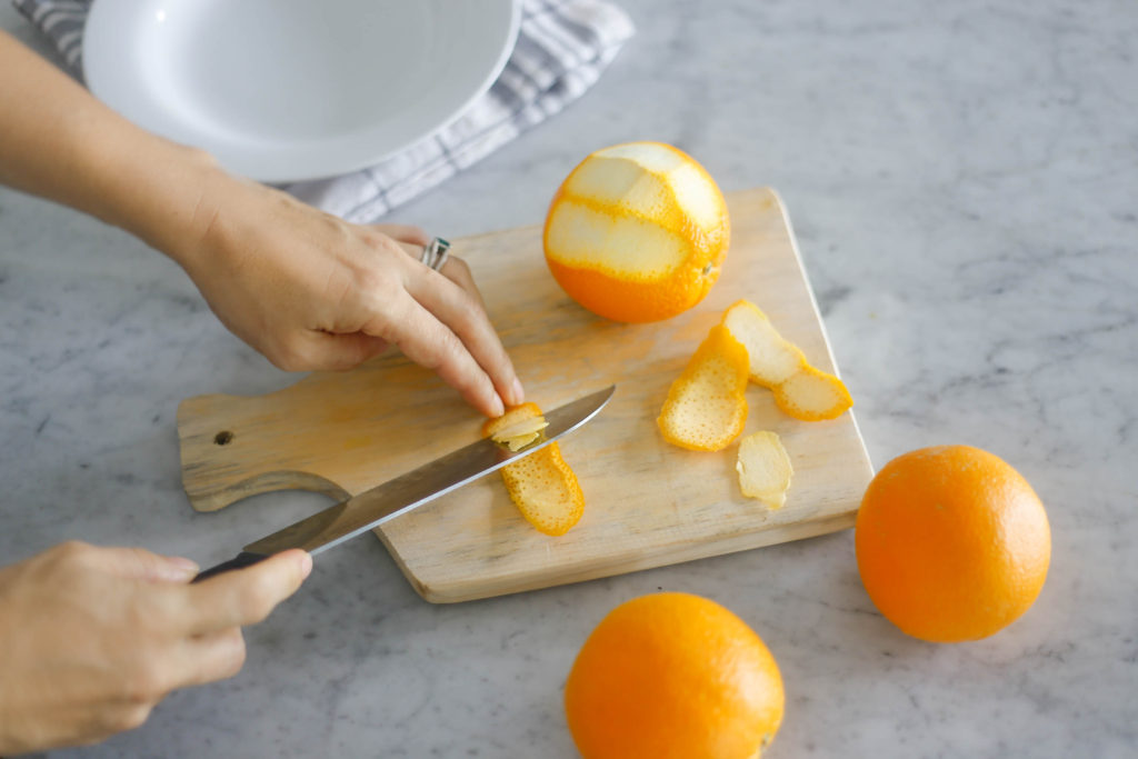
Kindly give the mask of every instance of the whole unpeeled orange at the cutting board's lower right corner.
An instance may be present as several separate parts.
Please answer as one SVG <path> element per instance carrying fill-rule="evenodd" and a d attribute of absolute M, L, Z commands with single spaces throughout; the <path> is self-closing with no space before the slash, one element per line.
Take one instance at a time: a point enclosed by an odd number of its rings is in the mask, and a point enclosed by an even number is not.
<path fill-rule="evenodd" d="M 881 613 L 937 643 L 1012 624 L 1039 595 L 1052 555 L 1036 492 L 1001 459 L 966 445 L 885 464 L 861 500 L 855 543 Z"/>

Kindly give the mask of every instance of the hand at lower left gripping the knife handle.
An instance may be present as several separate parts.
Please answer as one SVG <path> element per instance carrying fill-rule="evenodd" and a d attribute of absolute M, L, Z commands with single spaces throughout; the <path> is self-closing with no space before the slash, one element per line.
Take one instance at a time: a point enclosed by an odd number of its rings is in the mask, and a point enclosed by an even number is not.
<path fill-rule="evenodd" d="M 236 675 L 241 626 L 311 569 L 286 551 L 190 585 L 187 559 L 83 543 L 0 569 L 0 754 L 101 741 L 175 688 Z"/>

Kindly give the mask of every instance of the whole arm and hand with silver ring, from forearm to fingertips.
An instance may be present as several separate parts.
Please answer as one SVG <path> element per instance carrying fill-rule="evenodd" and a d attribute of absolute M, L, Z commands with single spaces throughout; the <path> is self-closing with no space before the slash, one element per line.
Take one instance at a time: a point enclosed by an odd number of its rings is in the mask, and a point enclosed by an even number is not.
<path fill-rule="evenodd" d="M 479 411 L 523 401 L 461 261 L 225 174 L 139 129 L 0 32 L 0 183 L 67 204 L 178 261 L 214 313 L 283 369 L 347 369 L 398 345 Z"/>

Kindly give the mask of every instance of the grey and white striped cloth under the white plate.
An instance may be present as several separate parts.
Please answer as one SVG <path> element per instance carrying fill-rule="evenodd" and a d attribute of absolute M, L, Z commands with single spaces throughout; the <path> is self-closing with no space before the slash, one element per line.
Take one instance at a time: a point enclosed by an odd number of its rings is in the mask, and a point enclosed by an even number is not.
<path fill-rule="evenodd" d="M 13 0 L 82 77 L 91 0 Z M 314 206 L 370 222 L 485 158 L 579 98 L 634 34 L 601 0 L 523 0 L 518 43 L 494 85 L 455 122 L 376 166 L 283 185 Z"/>

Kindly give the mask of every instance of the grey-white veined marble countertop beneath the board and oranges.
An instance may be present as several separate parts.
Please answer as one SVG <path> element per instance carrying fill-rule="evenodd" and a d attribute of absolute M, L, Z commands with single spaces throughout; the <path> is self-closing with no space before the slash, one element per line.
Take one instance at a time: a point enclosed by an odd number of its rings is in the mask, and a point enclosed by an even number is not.
<path fill-rule="evenodd" d="M 570 757 L 564 676 L 660 588 L 748 620 L 787 688 L 772 757 L 1138 756 L 1138 6 L 624 0 L 638 36 L 569 110 L 395 218 L 534 223 L 584 154 L 674 142 L 784 196 L 876 467 L 970 443 L 1052 520 L 1036 605 L 931 645 L 881 618 L 852 533 L 434 607 L 382 547 L 322 556 L 233 680 L 71 757 Z M 7 3 L 0 25 L 31 40 Z M 312 511 L 196 514 L 174 409 L 291 381 L 126 236 L 0 190 L 0 561 L 59 541 L 201 562 Z"/>

